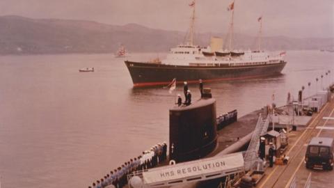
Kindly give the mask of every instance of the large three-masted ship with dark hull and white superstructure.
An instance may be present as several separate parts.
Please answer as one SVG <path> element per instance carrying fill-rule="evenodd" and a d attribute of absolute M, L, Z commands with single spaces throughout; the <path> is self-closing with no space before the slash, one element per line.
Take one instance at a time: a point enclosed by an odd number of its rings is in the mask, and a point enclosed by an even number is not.
<path fill-rule="evenodd" d="M 193 13 L 189 40 L 186 45 L 178 45 L 170 49 L 170 53 L 161 63 L 125 61 L 134 87 L 166 85 L 174 78 L 177 79 L 177 84 L 181 84 L 183 81 L 197 83 L 198 79 L 209 82 L 252 79 L 281 74 L 280 72 L 287 63 L 283 60 L 285 52 L 274 55 L 264 52 L 260 49 L 260 40 L 256 51 L 233 49 L 234 1 L 228 7 L 231 12 L 228 49 L 223 50 L 223 42 L 219 45 L 217 38 L 212 39 L 210 47 L 194 45 L 195 5 L 195 1 L 189 4 L 193 8 Z M 260 22 L 260 39 L 262 17 L 259 17 L 257 21 Z"/>

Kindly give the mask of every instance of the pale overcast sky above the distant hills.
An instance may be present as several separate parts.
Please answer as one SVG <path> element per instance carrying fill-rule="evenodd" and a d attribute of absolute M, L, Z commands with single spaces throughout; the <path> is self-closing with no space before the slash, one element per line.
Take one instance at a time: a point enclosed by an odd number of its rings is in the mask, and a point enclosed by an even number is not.
<path fill-rule="evenodd" d="M 85 19 L 186 31 L 191 0 L 0 0 L 0 15 Z M 196 31 L 226 33 L 232 0 L 196 0 Z M 234 31 L 264 36 L 334 37 L 334 0 L 236 0 Z"/>

